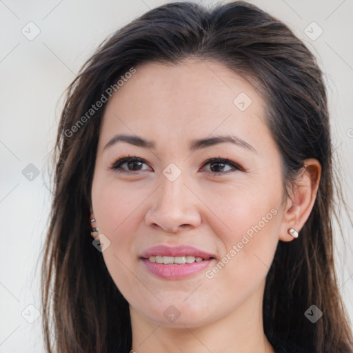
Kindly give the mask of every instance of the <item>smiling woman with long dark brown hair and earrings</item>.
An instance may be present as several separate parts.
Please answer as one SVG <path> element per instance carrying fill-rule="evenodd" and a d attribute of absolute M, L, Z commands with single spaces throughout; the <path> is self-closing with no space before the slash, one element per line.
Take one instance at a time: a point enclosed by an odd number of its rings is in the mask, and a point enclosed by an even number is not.
<path fill-rule="evenodd" d="M 150 10 L 70 85 L 56 162 L 48 352 L 353 352 L 322 73 L 281 21 Z"/>

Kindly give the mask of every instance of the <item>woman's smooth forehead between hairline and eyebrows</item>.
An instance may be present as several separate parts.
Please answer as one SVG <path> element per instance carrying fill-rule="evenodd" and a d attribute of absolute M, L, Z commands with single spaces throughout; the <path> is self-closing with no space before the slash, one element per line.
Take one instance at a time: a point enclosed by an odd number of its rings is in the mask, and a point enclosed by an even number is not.
<path fill-rule="evenodd" d="M 160 137 L 260 133 L 265 103 L 247 79 L 216 61 L 145 63 L 112 95 L 100 140 L 113 132 Z"/>

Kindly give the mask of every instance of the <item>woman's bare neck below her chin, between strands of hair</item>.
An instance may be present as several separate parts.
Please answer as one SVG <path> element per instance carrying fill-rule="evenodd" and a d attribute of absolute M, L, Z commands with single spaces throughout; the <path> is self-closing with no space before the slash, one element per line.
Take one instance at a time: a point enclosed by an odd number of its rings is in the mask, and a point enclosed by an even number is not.
<path fill-rule="evenodd" d="M 260 298 L 261 299 L 261 298 Z M 136 353 L 274 353 L 263 332 L 262 300 L 254 294 L 218 321 L 198 327 L 165 327 L 130 306 Z"/>

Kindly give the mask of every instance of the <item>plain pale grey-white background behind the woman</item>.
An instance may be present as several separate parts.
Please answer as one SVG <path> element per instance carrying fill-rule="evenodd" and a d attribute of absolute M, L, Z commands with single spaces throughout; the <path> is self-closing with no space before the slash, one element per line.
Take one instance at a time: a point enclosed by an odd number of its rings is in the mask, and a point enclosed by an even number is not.
<path fill-rule="evenodd" d="M 149 8 L 166 2 L 171 1 L 0 0 L 2 353 L 43 352 L 41 317 L 34 319 L 41 307 L 39 258 L 50 210 L 48 154 L 52 150 L 59 121 L 59 98 L 83 62 L 108 34 Z M 287 23 L 319 59 L 326 75 L 334 146 L 343 165 L 339 173 L 352 219 L 353 2 L 251 2 Z M 34 26 L 28 25 L 30 21 L 40 30 L 32 41 L 21 32 L 23 29 L 28 36 L 35 34 Z M 312 24 L 313 21 L 319 27 Z M 320 28 L 323 33 L 312 40 L 320 33 Z M 38 177 L 33 175 L 32 181 L 22 174 L 29 163 L 40 171 Z M 343 248 L 339 236 L 336 243 L 339 249 L 339 286 L 353 318 L 353 301 L 350 298 L 353 289 L 353 232 L 350 219 L 342 214 L 347 247 Z M 28 322 L 33 320 L 33 323 Z"/>

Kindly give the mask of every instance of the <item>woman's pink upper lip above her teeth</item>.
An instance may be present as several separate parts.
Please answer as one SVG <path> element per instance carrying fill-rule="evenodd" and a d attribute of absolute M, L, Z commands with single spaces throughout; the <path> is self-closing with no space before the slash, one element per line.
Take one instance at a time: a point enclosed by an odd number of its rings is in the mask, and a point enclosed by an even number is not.
<path fill-rule="evenodd" d="M 168 245 L 157 245 L 145 250 L 140 258 L 148 259 L 150 256 L 194 256 L 201 257 L 203 260 L 207 259 L 216 259 L 216 255 L 205 252 L 201 249 L 194 248 L 190 245 L 177 245 L 177 246 L 168 246 Z"/>

